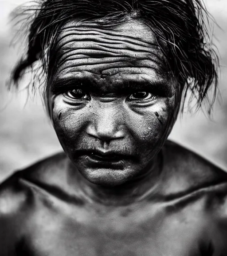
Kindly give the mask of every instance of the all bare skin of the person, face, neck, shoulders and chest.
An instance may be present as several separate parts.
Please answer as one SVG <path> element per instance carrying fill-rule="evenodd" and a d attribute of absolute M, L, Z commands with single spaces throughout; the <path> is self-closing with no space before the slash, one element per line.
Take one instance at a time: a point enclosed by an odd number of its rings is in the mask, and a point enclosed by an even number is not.
<path fill-rule="evenodd" d="M 165 141 L 180 88 L 153 33 L 93 25 L 59 34 L 48 99 L 65 153 L 0 185 L 0 255 L 227 255 L 227 173 Z"/>

